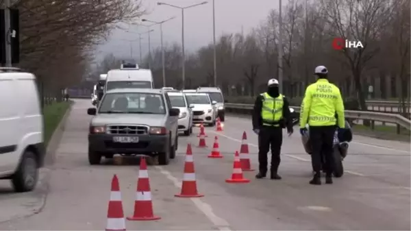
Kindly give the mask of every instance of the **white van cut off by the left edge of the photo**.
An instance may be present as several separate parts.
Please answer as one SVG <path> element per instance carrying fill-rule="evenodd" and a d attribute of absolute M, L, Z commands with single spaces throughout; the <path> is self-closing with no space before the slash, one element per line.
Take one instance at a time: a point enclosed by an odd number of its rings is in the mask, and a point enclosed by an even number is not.
<path fill-rule="evenodd" d="M 0 179 L 32 191 L 45 159 L 43 117 L 36 77 L 0 68 Z"/>

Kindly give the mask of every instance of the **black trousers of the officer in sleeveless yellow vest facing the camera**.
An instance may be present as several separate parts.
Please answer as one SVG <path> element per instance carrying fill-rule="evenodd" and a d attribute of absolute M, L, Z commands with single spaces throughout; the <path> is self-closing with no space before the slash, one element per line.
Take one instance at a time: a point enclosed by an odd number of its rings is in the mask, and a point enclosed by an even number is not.
<path fill-rule="evenodd" d="M 267 154 L 271 145 L 271 172 L 277 173 L 282 145 L 281 127 L 262 127 L 258 134 L 258 162 L 260 173 L 267 173 Z"/>

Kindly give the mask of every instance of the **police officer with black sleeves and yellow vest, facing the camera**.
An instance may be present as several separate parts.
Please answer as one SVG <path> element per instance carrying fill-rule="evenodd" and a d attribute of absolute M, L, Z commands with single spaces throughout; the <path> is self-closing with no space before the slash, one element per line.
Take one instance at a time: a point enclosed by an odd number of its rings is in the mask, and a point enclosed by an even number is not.
<path fill-rule="evenodd" d="M 284 127 L 287 127 L 288 135 L 291 135 L 293 130 L 290 108 L 286 97 L 279 94 L 278 81 L 271 79 L 267 92 L 257 97 L 253 110 L 253 131 L 258 134 L 258 162 L 260 164 L 257 179 L 266 177 L 267 153 L 271 145 L 270 177 L 273 180 L 281 180 L 277 171 Z"/>

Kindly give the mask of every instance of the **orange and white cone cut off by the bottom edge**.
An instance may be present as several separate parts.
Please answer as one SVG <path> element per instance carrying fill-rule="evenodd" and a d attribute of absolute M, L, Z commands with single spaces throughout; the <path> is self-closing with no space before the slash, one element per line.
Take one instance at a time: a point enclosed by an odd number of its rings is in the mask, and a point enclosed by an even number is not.
<path fill-rule="evenodd" d="M 105 231 L 125 231 L 123 203 L 121 202 L 121 191 L 117 175 L 114 175 L 112 178 Z"/>

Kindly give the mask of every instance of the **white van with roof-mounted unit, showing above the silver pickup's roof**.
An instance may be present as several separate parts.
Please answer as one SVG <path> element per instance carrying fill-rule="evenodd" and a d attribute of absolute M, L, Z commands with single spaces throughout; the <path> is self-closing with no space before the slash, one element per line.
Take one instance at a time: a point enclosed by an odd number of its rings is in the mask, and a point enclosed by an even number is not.
<path fill-rule="evenodd" d="M 154 88 L 153 75 L 137 64 L 121 64 L 121 69 L 108 71 L 105 82 L 105 91 L 116 88 Z"/>

